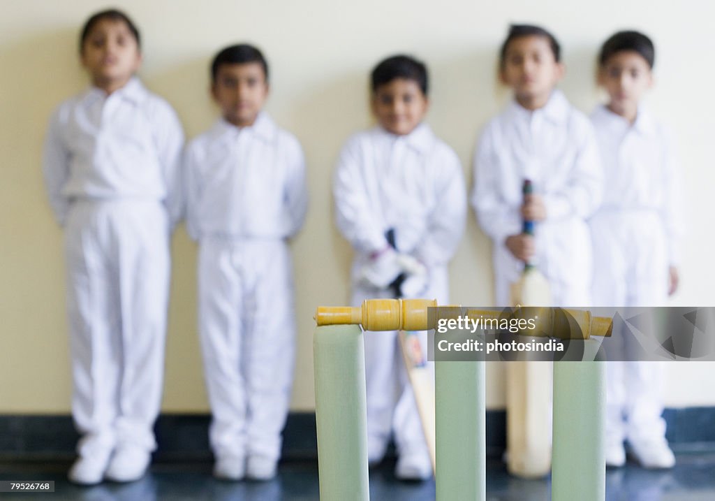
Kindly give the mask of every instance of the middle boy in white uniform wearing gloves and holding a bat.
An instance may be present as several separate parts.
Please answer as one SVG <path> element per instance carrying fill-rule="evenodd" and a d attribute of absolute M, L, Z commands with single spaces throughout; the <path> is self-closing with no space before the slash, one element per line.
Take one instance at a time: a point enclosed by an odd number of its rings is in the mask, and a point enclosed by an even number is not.
<path fill-rule="evenodd" d="M 395 294 L 448 301 L 447 265 L 463 233 L 465 188 L 457 155 L 423 123 L 427 79 L 424 64 L 411 57 L 378 64 L 372 107 L 379 125 L 352 136 L 340 153 L 333 192 L 337 227 L 355 249 L 355 305 Z M 365 372 L 370 462 L 382 459 L 394 432 L 396 475 L 430 477 L 395 332 L 365 334 Z"/>

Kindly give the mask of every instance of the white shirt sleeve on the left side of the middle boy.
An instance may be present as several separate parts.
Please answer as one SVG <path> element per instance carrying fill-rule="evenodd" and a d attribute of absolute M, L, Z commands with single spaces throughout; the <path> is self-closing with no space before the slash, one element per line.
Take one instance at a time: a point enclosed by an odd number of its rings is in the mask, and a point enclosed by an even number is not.
<path fill-rule="evenodd" d="M 360 145 L 354 140 L 348 142 L 333 177 L 335 223 L 355 250 L 371 254 L 386 248 L 388 241 L 383 220 L 370 206 L 363 167 Z"/>

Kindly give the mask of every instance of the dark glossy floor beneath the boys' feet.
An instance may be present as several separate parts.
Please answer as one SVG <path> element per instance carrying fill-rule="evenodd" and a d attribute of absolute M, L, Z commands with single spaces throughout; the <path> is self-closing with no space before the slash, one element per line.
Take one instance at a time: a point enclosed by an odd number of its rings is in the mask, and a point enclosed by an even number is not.
<path fill-rule="evenodd" d="M 152 466 L 150 475 L 127 485 L 107 483 L 82 488 L 66 481 L 66 462 L 2 462 L 0 480 L 54 480 L 54 494 L 0 494 L 0 500 L 85 501 L 304 501 L 318 499 L 317 464 L 284 462 L 272 482 L 220 482 L 212 479 L 211 464 L 164 462 Z M 394 462 L 386 460 L 370 472 L 373 500 L 433 500 L 435 484 L 395 480 Z M 503 464 L 490 462 L 487 472 L 488 501 L 546 501 L 548 480 L 517 480 Z M 715 453 L 681 452 L 674 470 L 651 472 L 628 464 L 606 474 L 607 501 L 712 501 L 715 500 Z"/>

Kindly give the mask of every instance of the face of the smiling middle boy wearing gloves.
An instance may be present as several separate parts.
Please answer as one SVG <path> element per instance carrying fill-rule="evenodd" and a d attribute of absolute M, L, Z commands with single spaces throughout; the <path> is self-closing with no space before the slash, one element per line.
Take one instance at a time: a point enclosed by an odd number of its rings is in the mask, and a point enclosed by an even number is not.
<path fill-rule="evenodd" d="M 395 78 L 375 90 L 372 104 L 380 126 L 388 132 L 403 136 L 420 125 L 429 103 L 417 82 Z"/>

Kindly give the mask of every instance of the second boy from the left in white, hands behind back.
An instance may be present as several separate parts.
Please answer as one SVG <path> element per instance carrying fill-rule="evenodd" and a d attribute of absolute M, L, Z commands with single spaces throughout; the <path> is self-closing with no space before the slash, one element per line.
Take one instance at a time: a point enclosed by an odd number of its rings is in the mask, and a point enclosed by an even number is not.
<path fill-rule="evenodd" d="M 187 228 L 199 241 L 199 336 L 214 475 L 275 476 L 290 403 L 290 248 L 307 208 L 300 144 L 261 111 L 268 67 L 250 45 L 212 63 L 222 119 L 186 152 Z"/>

